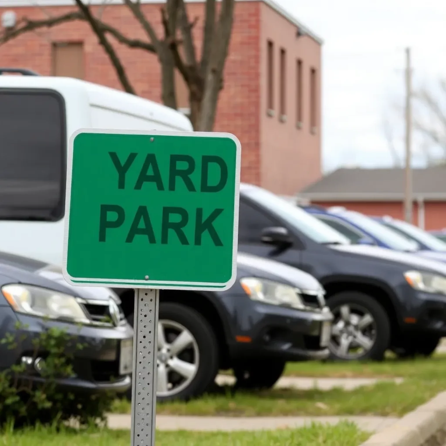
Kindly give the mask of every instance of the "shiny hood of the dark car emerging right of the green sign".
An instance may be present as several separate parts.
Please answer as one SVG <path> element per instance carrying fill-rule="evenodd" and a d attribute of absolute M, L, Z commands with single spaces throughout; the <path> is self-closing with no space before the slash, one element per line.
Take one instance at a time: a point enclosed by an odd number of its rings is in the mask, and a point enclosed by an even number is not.
<path fill-rule="evenodd" d="M 252 256 L 239 252 L 237 255 L 237 277 L 258 277 L 281 283 L 307 291 L 319 291 L 321 285 L 313 276 L 274 260 Z"/>

